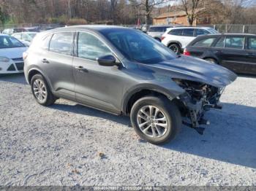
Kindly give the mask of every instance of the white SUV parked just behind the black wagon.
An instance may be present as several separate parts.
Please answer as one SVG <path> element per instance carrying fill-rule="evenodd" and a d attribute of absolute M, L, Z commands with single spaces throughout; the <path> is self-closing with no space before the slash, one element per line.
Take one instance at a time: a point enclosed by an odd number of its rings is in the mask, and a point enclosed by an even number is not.
<path fill-rule="evenodd" d="M 218 31 L 209 27 L 178 27 L 170 28 L 165 31 L 165 34 L 162 35 L 162 44 L 169 47 L 170 50 L 180 53 L 187 47 L 189 42 L 192 42 L 197 36 L 206 35 L 206 34 L 218 34 Z"/>

